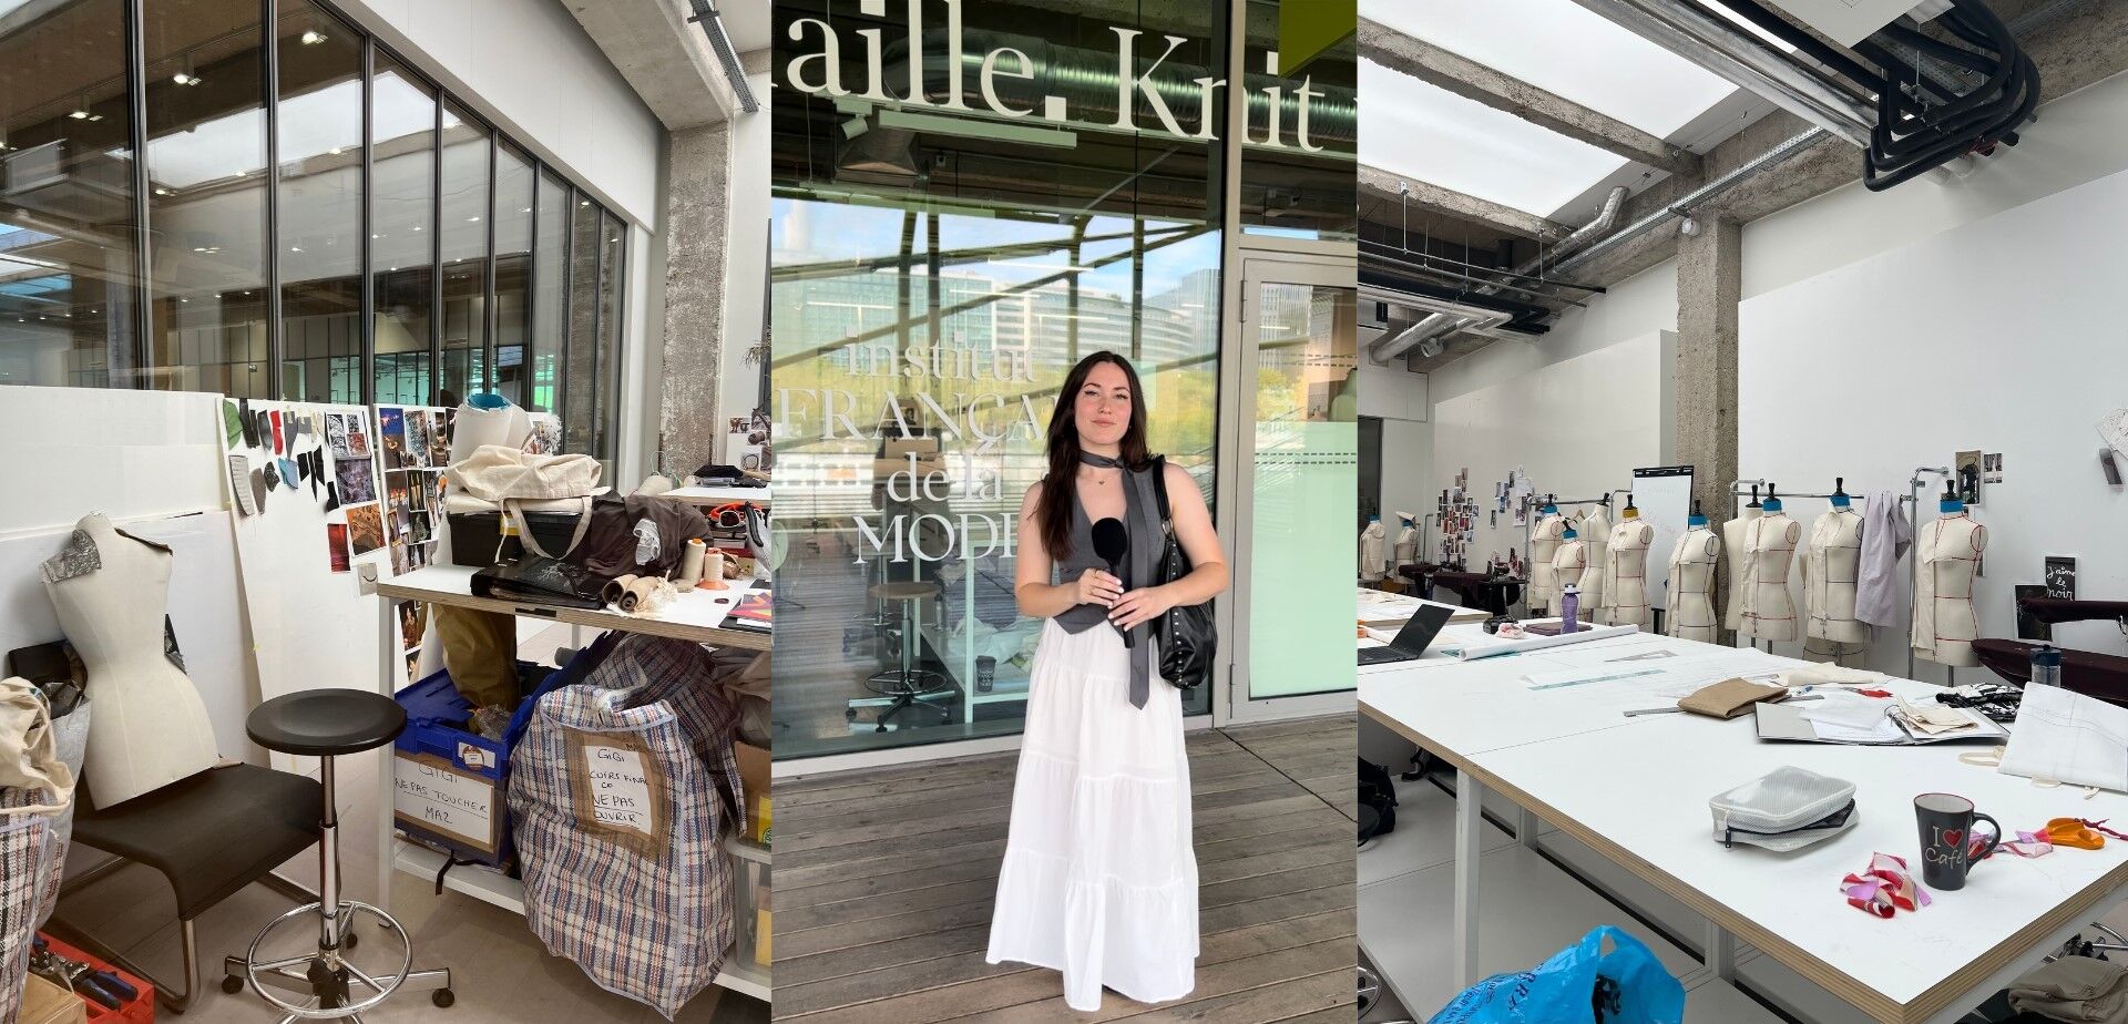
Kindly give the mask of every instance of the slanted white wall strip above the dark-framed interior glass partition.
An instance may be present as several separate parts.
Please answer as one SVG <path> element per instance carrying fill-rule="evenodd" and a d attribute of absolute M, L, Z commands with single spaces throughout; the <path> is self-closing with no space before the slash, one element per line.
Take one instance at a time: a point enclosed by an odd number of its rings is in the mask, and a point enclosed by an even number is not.
<path fill-rule="evenodd" d="M 615 213 L 660 224 L 664 128 L 555 0 L 338 0 Z"/>

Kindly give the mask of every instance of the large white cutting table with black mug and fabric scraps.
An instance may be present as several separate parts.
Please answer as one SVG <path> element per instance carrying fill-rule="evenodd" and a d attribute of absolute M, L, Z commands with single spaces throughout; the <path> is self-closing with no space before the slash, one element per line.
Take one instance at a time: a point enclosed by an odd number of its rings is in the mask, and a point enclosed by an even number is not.
<path fill-rule="evenodd" d="M 2039 860 L 2000 854 L 1977 864 L 1964 890 L 1934 892 L 1932 907 L 1892 920 L 1862 913 L 1841 896 L 1839 881 L 1862 871 L 1875 852 L 1898 854 L 1919 869 L 1915 794 L 1971 796 L 2011 832 L 2062 815 L 2128 817 L 2128 796 L 2100 792 L 2085 800 L 2083 790 L 2039 788 L 1960 764 L 1960 752 L 1983 749 L 1966 743 L 1760 743 L 1749 715 L 1624 717 L 1622 707 L 1670 703 L 1636 698 L 1630 690 L 1641 683 L 1630 679 L 1543 692 L 1522 683 L 1524 673 L 1568 660 L 1587 664 L 1605 649 L 1739 654 L 1634 634 L 1479 662 L 1426 660 L 1360 677 L 1360 713 L 1458 771 L 1453 949 L 1462 984 L 1479 979 L 1475 894 L 1485 790 L 1517 807 L 1524 845 L 1536 843 L 1536 820 L 1549 822 L 1702 915 L 1707 967 L 1724 981 L 1734 979 L 1743 941 L 1883 1024 L 1956 1022 L 2128 896 L 2128 841 L 2113 841 L 2098 852 L 2056 849 Z M 1907 679 L 1888 686 L 1911 696 L 1936 690 Z M 1853 781 L 1856 828 L 1794 854 L 1715 843 L 1707 798 L 1781 764 Z"/>

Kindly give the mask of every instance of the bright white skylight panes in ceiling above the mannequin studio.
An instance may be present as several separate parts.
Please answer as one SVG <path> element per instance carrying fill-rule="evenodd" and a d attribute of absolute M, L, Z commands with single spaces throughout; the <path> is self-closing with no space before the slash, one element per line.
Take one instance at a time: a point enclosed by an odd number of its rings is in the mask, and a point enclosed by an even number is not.
<path fill-rule="evenodd" d="M 1360 0 L 1360 15 L 1696 153 L 1773 109 L 1575 0 Z M 1562 224 L 1666 177 L 1366 60 L 1360 96 L 1362 164 Z"/>

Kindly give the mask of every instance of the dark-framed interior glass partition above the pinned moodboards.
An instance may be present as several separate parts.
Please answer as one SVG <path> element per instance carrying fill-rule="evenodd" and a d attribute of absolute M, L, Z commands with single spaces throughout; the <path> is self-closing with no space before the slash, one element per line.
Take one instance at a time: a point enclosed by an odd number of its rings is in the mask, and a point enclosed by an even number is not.
<path fill-rule="evenodd" d="M 326 4 L 0 17 L 0 383 L 498 390 L 611 460 L 626 249 L 624 219 Z"/>

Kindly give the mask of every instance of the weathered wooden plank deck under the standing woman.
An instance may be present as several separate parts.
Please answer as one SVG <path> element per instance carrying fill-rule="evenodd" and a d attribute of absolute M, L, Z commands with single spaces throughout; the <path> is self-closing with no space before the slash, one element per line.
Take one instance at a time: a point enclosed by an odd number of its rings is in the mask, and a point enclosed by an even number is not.
<path fill-rule="evenodd" d="M 1196 990 L 1064 1007 L 1055 971 L 983 962 L 1015 754 L 777 783 L 775 1020 L 1351 1024 L 1353 720 L 1192 734 Z"/>

